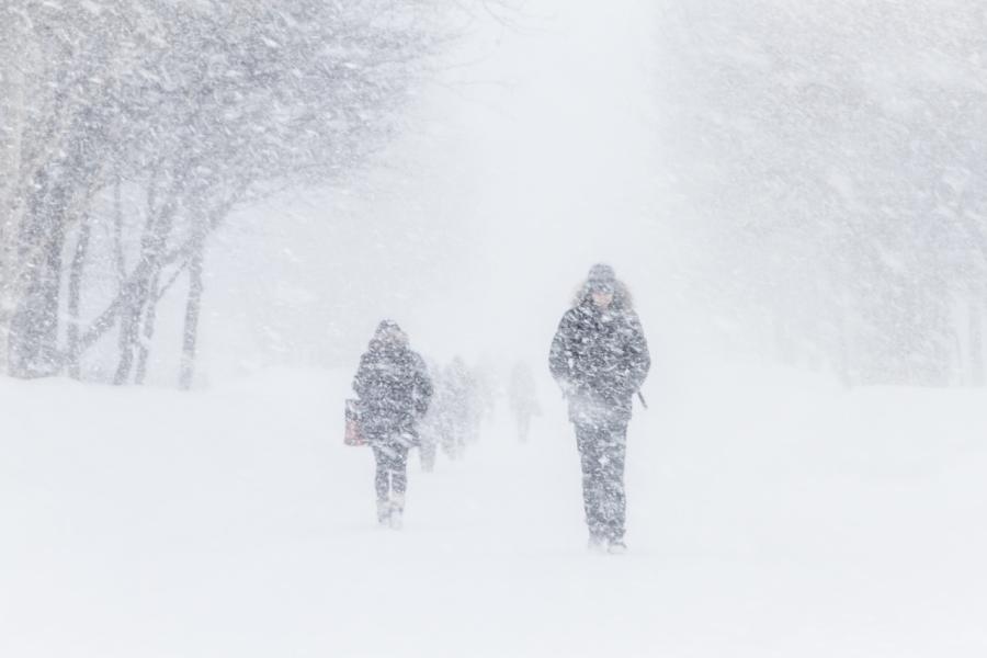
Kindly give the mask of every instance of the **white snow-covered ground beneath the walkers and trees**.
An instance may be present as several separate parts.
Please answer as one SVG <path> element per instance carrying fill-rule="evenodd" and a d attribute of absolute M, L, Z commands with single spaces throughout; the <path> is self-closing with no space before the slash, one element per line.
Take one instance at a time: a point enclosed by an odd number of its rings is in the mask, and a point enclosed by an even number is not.
<path fill-rule="evenodd" d="M 719 372 L 631 428 L 586 551 L 560 402 L 375 526 L 349 373 L 0 382 L 0 656 L 987 655 L 987 394 Z"/>

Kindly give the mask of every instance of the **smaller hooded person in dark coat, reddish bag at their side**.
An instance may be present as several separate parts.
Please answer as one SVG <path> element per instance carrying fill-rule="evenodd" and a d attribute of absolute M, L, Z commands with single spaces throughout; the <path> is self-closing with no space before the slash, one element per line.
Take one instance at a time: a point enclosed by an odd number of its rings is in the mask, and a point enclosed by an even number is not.
<path fill-rule="evenodd" d="M 377 521 L 400 527 L 408 486 L 408 450 L 429 408 L 432 382 L 424 361 L 408 347 L 397 322 L 377 326 L 353 379 L 360 430 L 374 452 Z"/>

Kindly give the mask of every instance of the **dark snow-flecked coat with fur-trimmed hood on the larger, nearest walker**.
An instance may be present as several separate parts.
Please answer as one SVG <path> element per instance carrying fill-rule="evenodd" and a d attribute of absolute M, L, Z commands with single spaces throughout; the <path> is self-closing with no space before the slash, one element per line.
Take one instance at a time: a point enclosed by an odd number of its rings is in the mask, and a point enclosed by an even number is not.
<path fill-rule="evenodd" d="M 583 295 L 558 325 L 548 367 L 574 422 L 626 421 L 651 358 L 626 291 L 601 309 Z"/>

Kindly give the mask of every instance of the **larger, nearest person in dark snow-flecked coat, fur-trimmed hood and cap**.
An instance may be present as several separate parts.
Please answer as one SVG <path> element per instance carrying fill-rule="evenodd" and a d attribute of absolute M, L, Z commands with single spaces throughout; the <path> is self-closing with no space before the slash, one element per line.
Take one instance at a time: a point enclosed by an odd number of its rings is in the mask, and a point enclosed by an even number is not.
<path fill-rule="evenodd" d="M 651 359 L 626 286 L 597 264 L 558 325 L 548 366 L 569 404 L 590 547 L 626 551 L 624 458 L 634 396 Z"/>

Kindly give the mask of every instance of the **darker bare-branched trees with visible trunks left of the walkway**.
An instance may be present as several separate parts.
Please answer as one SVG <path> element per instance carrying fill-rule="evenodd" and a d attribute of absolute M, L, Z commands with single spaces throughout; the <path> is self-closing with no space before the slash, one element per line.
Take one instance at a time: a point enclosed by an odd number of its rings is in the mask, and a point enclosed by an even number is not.
<path fill-rule="evenodd" d="M 236 208 L 353 171 L 451 38 L 406 0 L 26 0 L 0 9 L 0 363 L 147 375 L 183 292 L 193 377 L 207 239 Z M 179 285 L 180 284 L 180 285 Z M 177 361 L 178 361 L 178 354 Z"/>

